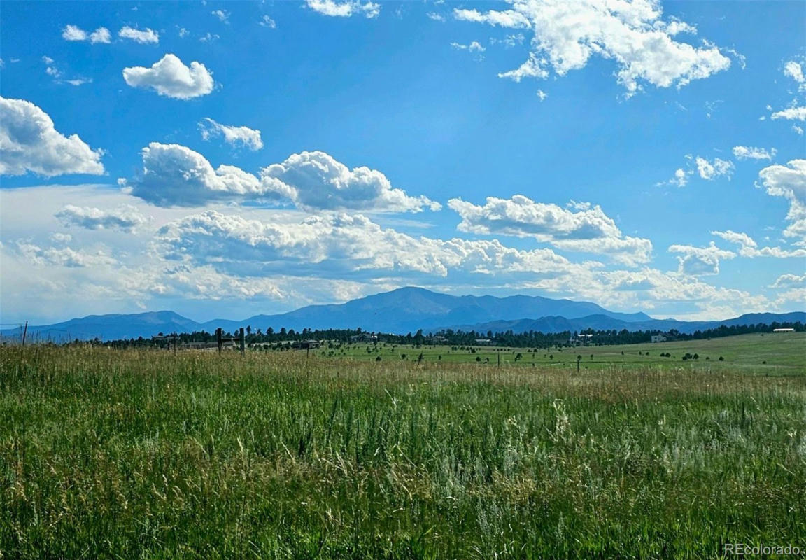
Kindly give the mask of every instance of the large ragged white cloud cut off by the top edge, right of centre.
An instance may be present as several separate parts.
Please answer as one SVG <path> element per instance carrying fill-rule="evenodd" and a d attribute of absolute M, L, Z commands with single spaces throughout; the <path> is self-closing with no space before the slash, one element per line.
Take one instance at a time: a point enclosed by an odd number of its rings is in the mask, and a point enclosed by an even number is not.
<path fill-rule="evenodd" d="M 675 40 L 696 28 L 664 20 L 659 2 L 596 2 L 595 0 L 509 0 L 508 10 L 455 9 L 456 19 L 534 31 L 528 60 L 519 69 L 501 73 L 523 77 L 559 76 L 581 69 L 599 55 L 618 65 L 617 78 L 629 94 L 642 83 L 658 87 L 685 86 L 690 81 L 728 69 L 730 59 L 707 41 L 699 47 Z"/>

